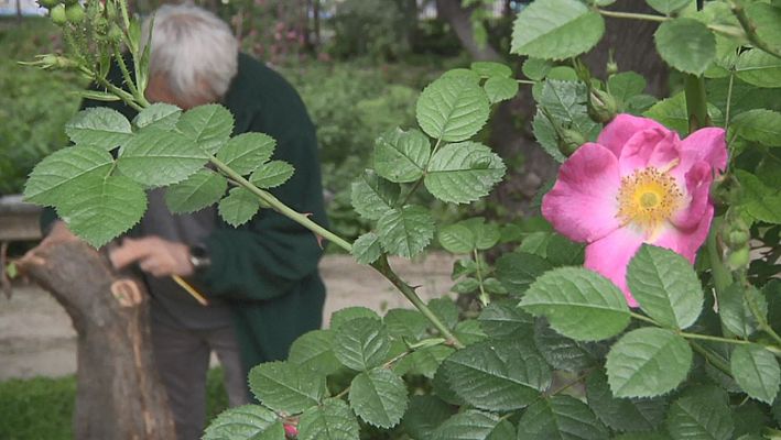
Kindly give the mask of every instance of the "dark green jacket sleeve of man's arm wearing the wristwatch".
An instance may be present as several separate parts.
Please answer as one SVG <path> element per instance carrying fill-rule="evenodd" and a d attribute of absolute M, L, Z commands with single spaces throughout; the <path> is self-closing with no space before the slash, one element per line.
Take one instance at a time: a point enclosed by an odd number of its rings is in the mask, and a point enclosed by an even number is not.
<path fill-rule="evenodd" d="M 293 165 L 295 173 L 272 194 L 327 227 L 314 128 L 300 127 L 276 138 L 274 158 Z M 316 274 L 323 253 L 313 232 L 271 209 L 261 209 L 238 229 L 220 223 L 205 244 L 211 266 L 200 278 L 208 295 L 239 300 L 284 295 Z"/>

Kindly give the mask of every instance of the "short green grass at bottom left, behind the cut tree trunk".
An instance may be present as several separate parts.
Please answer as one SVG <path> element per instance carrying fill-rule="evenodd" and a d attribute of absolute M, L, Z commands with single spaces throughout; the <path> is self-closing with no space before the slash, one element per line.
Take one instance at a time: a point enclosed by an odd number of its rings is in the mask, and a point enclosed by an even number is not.
<path fill-rule="evenodd" d="M 210 420 L 228 406 L 221 369 L 209 371 L 206 393 L 206 416 Z M 75 396 L 75 376 L 0 382 L 0 439 L 73 439 Z"/>

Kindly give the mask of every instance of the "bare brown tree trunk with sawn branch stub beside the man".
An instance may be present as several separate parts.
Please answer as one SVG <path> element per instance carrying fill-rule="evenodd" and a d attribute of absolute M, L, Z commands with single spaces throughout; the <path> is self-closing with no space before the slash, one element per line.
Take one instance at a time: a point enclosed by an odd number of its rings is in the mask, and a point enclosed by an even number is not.
<path fill-rule="evenodd" d="M 174 439 L 141 284 L 77 241 L 44 241 L 18 265 L 65 308 L 78 333 L 74 438 Z"/>

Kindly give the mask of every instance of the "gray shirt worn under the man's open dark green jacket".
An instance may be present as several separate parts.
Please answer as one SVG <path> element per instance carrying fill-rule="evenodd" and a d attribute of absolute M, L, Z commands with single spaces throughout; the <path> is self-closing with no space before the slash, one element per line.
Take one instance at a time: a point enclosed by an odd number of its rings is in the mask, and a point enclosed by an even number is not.
<path fill-rule="evenodd" d="M 215 228 L 214 207 L 200 211 L 175 215 L 165 205 L 164 190 L 148 191 L 149 208 L 138 228 L 140 237 L 158 235 L 162 239 L 195 245 Z M 162 323 L 186 329 L 214 329 L 229 326 L 231 322 L 228 306 L 218 299 L 209 298 L 208 306 L 202 306 L 170 276 L 155 277 L 144 274 L 147 286 L 152 297 L 152 319 Z M 205 287 L 194 278 L 187 282 L 208 297 Z"/>

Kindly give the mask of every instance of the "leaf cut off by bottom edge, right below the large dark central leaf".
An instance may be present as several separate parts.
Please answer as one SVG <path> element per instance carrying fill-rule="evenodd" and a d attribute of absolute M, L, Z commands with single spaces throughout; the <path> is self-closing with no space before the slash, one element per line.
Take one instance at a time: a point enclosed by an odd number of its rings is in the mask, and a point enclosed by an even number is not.
<path fill-rule="evenodd" d="M 603 440 L 605 426 L 581 400 L 557 395 L 535 402 L 519 421 L 518 440 Z"/>

